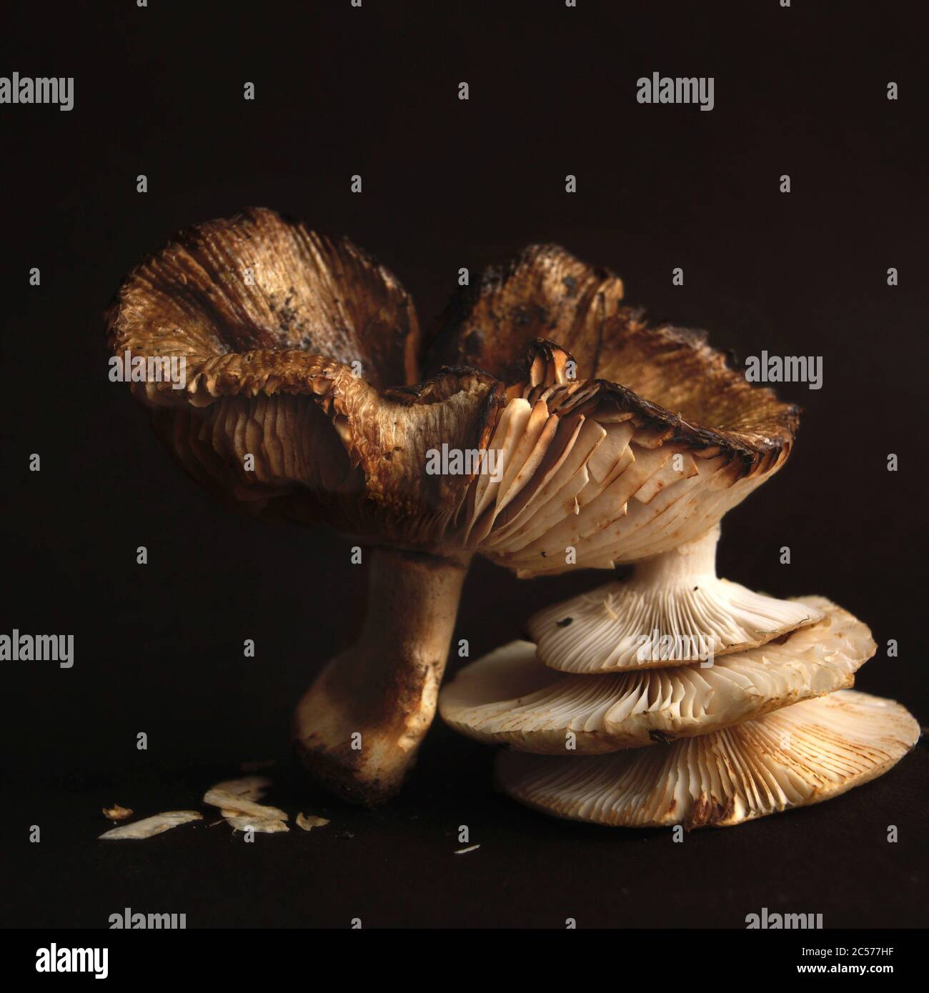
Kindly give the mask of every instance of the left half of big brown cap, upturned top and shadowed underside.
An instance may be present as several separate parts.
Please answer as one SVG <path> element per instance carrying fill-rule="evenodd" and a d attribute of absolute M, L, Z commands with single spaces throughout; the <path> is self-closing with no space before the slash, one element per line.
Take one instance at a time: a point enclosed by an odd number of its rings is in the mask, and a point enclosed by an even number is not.
<path fill-rule="evenodd" d="M 500 387 L 465 370 L 407 388 L 412 303 L 349 239 L 263 209 L 198 224 L 129 274 L 107 322 L 116 355 L 183 357 L 183 389 L 133 392 L 216 496 L 387 544 L 442 544 L 471 478 L 427 475 L 427 450 L 486 444 Z"/>

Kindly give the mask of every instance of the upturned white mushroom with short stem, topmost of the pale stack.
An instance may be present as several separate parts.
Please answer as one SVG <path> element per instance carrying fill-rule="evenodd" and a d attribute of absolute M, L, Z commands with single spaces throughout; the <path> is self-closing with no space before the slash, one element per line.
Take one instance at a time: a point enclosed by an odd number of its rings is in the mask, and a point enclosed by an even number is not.
<path fill-rule="evenodd" d="M 553 604 L 526 630 L 562 672 L 638 671 L 744 651 L 823 620 L 820 598 L 778 600 L 715 572 L 718 527 L 625 582 Z M 824 601 L 828 603 L 828 601 Z"/>

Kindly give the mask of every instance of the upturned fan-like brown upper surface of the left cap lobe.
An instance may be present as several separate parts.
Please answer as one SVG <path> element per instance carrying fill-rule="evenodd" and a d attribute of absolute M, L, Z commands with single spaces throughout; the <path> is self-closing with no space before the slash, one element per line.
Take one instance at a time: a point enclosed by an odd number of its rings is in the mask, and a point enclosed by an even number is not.
<path fill-rule="evenodd" d="M 186 355 L 204 399 L 305 392 L 303 363 L 319 355 L 360 361 L 376 387 L 418 378 L 416 313 L 392 273 L 348 238 L 263 208 L 181 231 L 129 274 L 109 320 L 114 351 Z"/>

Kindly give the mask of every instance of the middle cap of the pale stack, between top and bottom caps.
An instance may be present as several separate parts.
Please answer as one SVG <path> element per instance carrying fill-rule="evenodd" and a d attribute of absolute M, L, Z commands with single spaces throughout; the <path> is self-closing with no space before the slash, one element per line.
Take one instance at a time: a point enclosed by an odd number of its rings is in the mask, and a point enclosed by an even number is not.
<path fill-rule="evenodd" d="M 542 755 L 597 755 L 692 738 L 851 686 L 876 645 L 822 597 L 797 603 L 824 620 L 781 642 L 672 669 L 564 675 L 530 641 L 466 665 L 441 692 L 442 718 L 486 744 Z"/>

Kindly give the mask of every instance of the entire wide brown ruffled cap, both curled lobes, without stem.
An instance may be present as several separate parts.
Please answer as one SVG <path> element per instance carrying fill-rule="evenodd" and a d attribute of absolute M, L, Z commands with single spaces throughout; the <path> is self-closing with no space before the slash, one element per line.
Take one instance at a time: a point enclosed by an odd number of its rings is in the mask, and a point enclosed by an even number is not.
<path fill-rule="evenodd" d="M 615 276 L 532 246 L 453 299 L 417 382 L 395 277 L 347 238 L 255 209 L 146 259 L 108 330 L 116 355 L 184 359 L 183 389 L 133 390 L 218 496 L 533 576 L 697 537 L 793 444 L 797 408 L 621 298 Z"/>

